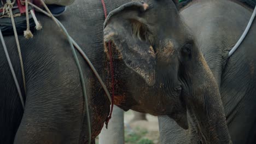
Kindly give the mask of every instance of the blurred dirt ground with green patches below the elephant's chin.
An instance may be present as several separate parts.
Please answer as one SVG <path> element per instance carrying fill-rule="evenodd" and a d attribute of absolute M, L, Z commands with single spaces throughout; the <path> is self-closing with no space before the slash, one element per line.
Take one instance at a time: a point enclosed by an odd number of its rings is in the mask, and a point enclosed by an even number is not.
<path fill-rule="evenodd" d="M 148 121 L 130 122 L 132 118 L 131 110 L 124 113 L 125 144 L 160 144 L 158 117 L 147 115 Z"/>

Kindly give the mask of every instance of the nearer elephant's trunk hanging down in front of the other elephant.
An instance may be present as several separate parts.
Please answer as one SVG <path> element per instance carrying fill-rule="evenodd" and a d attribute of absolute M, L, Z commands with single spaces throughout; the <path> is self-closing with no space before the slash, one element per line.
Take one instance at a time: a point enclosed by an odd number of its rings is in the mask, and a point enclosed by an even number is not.
<path fill-rule="evenodd" d="M 216 80 L 201 52 L 192 61 L 192 85 L 185 103 L 201 143 L 232 143 Z"/>

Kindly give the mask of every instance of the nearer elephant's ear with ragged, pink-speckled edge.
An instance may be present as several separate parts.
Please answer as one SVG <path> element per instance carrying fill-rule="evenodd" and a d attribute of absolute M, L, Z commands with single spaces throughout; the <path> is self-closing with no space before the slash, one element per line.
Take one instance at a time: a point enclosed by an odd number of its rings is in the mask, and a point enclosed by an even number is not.
<path fill-rule="evenodd" d="M 155 52 L 150 43 L 153 35 L 147 26 L 148 5 L 130 2 L 111 11 L 104 22 L 104 45 L 110 42 L 124 63 L 152 86 L 155 83 Z"/>

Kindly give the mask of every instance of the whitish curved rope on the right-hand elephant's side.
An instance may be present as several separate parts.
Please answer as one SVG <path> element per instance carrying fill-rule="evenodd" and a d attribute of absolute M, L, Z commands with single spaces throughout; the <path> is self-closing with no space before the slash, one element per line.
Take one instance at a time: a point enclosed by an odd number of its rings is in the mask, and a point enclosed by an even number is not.
<path fill-rule="evenodd" d="M 252 22 L 253 22 L 253 20 L 254 20 L 255 15 L 256 15 L 256 6 L 255 6 L 255 8 L 254 8 L 254 10 L 253 10 L 253 14 L 252 14 L 251 19 L 249 20 L 247 26 L 246 26 L 245 31 L 243 32 L 243 34 L 242 34 L 242 36 L 240 37 L 240 39 L 237 41 L 236 45 L 230 50 L 228 57 L 230 57 L 231 55 L 233 55 L 233 53 L 236 51 L 236 49 L 238 48 L 238 46 L 240 46 L 240 44 L 242 43 L 243 39 L 245 39 L 245 37 L 246 37 L 246 35 L 247 35 L 249 29 L 250 29 L 251 26 L 252 26 Z"/>

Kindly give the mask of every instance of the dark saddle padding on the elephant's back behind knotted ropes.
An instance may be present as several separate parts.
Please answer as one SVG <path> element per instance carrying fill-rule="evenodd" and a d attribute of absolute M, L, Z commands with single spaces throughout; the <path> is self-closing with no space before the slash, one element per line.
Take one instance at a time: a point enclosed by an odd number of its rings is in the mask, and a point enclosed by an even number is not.
<path fill-rule="evenodd" d="M 8 11 L 5 10 L 5 7 L 7 7 L 6 3 L 7 2 L 5 2 L 5 0 L 2 0 L 2 3 L 0 3 L 0 28 L 3 35 L 13 35 L 14 31 L 10 19 L 10 14 L 8 13 Z M 33 8 L 30 5 L 28 5 L 30 27 L 31 30 L 33 31 L 34 27 L 36 26 L 36 23 L 33 20 L 30 10 L 33 10 Z M 12 11 L 16 31 L 18 34 L 23 34 L 27 28 L 25 3 L 22 2 L 21 0 L 16 0 L 15 3 L 13 4 Z"/>

